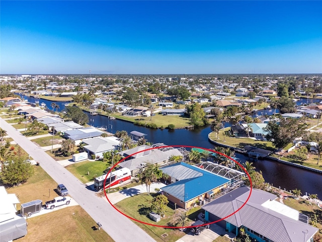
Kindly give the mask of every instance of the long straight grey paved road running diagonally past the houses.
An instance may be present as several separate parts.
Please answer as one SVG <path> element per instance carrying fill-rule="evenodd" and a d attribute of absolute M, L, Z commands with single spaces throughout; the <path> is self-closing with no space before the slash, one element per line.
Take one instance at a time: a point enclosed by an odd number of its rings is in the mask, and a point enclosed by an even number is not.
<path fill-rule="evenodd" d="M 41 167 L 58 183 L 65 184 L 70 196 L 115 240 L 155 241 L 130 219 L 117 212 L 109 203 L 86 188 L 68 170 L 51 158 L 45 151 L 23 136 L 15 128 L 0 117 L 0 127 L 7 131 L 34 160 L 39 161 Z M 93 224 L 93 226 L 96 224 Z"/>

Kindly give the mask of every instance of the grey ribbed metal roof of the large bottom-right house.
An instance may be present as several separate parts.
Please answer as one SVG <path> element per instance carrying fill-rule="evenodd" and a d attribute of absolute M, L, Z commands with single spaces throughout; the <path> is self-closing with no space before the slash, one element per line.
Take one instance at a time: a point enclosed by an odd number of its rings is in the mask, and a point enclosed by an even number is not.
<path fill-rule="evenodd" d="M 249 187 L 240 187 L 202 206 L 202 208 L 217 217 L 224 218 L 243 206 L 249 193 Z M 237 227 L 243 225 L 275 242 L 302 242 L 304 241 L 302 232 L 304 230 L 307 231 L 305 241 L 315 234 L 317 228 L 262 206 L 265 202 L 274 199 L 276 199 L 274 194 L 253 189 L 246 205 L 238 212 L 225 218 L 225 221 Z"/>

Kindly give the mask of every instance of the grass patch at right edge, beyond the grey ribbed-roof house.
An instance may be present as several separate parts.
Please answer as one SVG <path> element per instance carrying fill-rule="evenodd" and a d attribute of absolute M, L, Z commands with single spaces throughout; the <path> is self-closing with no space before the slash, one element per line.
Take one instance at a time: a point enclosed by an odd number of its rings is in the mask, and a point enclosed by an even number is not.
<path fill-rule="evenodd" d="M 312 217 L 315 213 L 317 217 L 317 228 L 322 229 L 322 209 L 317 207 L 316 204 L 309 204 L 308 201 L 304 199 L 295 200 L 295 199 L 285 199 L 283 200 L 283 203 L 291 208 L 294 208 L 295 210 L 299 211 L 300 213 L 303 213 L 307 215 L 308 217 Z"/>

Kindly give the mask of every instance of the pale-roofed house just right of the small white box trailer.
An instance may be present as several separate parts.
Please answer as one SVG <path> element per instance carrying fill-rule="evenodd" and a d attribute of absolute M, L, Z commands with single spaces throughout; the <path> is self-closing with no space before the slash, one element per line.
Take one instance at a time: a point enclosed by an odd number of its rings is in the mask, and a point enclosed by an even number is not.
<path fill-rule="evenodd" d="M 84 146 L 84 150 L 88 153 L 89 157 L 94 154 L 96 158 L 102 158 L 103 153 L 111 150 L 116 150 L 121 142 L 117 140 L 117 137 L 110 136 L 96 137 L 93 139 L 85 140 L 84 143 L 87 144 L 86 146 Z"/>

